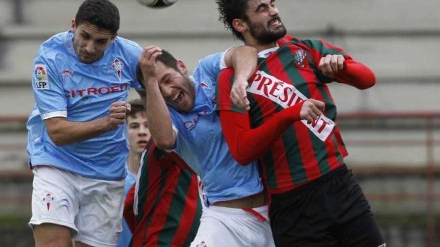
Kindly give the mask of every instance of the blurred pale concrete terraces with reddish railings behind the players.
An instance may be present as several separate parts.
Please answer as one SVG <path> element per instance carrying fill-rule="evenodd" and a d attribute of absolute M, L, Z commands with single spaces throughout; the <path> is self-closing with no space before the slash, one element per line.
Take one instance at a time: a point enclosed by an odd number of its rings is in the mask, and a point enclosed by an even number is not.
<path fill-rule="evenodd" d="M 156 44 L 193 68 L 238 45 L 213 0 L 151 9 L 112 0 L 120 36 Z M 33 105 L 32 60 L 66 31 L 82 0 L 0 0 L 0 246 L 33 246 L 32 174 L 25 121 Z M 290 35 L 325 39 L 372 68 L 374 88 L 332 83 L 347 165 L 360 182 L 387 246 L 440 246 L 440 1 L 277 0 Z M 136 97 L 131 93 L 130 98 Z"/>

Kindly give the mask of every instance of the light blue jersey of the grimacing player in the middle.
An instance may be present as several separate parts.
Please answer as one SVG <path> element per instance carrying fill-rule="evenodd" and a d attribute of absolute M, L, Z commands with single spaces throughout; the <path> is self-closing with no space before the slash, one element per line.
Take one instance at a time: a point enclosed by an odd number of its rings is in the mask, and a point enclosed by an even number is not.
<path fill-rule="evenodd" d="M 215 112 L 215 84 L 223 53 L 199 61 L 191 77 L 195 84 L 193 108 L 169 108 L 177 132 L 175 151 L 203 181 L 205 205 L 254 195 L 263 190 L 256 162 L 239 165 L 231 156 Z"/>

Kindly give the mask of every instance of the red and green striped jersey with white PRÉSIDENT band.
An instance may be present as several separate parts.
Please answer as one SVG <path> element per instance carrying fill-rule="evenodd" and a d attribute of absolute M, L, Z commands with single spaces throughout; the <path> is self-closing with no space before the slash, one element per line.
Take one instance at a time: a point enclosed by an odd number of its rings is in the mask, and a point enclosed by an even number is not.
<path fill-rule="evenodd" d="M 312 181 L 343 165 L 347 155 L 335 124 L 336 106 L 326 83 L 333 79 L 318 70 L 321 57 L 341 54 L 340 48 L 324 41 L 285 36 L 279 48 L 258 58 L 257 71 L 249 80 L 247 97 L 250 127 L 256 128 L 284 108 L 313 98 L 325 103 L 324 114 L 308 124 L 296 121 L 285 129 L 259 157 L 263 177 L 271 193 L 283 193 Z M 230 101 L 233 74 L 223 71 L 217 83 L 217 110 L 243 111 Z"/>

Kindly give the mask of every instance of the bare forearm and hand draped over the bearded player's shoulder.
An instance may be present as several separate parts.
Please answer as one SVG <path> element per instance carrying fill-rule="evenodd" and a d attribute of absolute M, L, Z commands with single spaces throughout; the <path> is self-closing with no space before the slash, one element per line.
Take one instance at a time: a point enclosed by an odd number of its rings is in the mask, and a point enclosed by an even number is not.
<path fill-rule="evenodd" d="M 249 110 L 246 96 L 247 80 L 255 72 L 257 52 L 254 47 L 242 45 L 232 47 L 224 55 L 226 67 L 234 69 L 234 82 L 230 90 L 230 99 L 241 109 Z"/>

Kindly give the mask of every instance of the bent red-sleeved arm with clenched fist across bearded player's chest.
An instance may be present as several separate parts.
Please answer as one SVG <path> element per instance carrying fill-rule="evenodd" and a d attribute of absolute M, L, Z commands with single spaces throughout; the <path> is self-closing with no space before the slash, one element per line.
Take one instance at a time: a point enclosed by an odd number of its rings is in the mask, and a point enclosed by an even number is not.
<path fill-rule="evenodd" d="M 251 129 L 247 112 L 231 110 L 227 102 L 228 81 L 231 69 L 221 71 L 218 79 L 218 110 L 223 135 L 232 157 L 241 165 L 246 165 L 267 152 L 282 132 L 294 121 L 316 120 L 322 114 L 324 103 L 308 99 L 276 113 L 271 119 L 257 128 Z"/>

